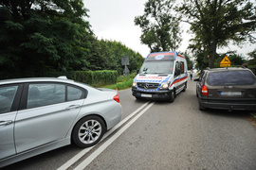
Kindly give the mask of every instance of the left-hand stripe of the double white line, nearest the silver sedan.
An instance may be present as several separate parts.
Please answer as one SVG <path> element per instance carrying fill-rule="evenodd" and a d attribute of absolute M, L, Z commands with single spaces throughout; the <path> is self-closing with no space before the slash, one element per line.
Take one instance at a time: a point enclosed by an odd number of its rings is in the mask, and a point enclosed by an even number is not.
<path fill-rule="evenodd" d="M 137 114 L 137 112 L 139 112 L 140 110 L 142 110 L 143 108 L 145 108 L 147 105 L 149 104 L 149 102 L 145 103 L 144 105 L 142 105 L 141 107 L 139 107 L 137 110 L 135 110 L 133 113 L 131 113 L 129 116 L 125 117 L 121 122 L 119 122 L 119 124 L 113 128 L 111 128 L 110 130 L 108 130 L 102 137 L 101 141 L 105 138 L 107 138 L 111 133 L 113 133 L 116 129 L 118 129 L 119 127 L 121 127 L 123 124 L 125 124 L 129 119 L 131 119 L 131 117 L 133 117 L 135 114 Z M 150 105 L 150 107 L 153 105 L 154 103 L 152 103 Z M 143 113 L 146 111 L 146 109 L 148 110 L 150 108 L 149 106 L 147 108 L 145 108 L 143 110 Z M 141 114 L 141 112 L 139 113 Z M 142 114 L 141 114 L 142 115 Z M 140 116 L 140 115 L 139 115 Z M 137 117 L 137 116 L 136 116 Z M 135 118 L 136 118 L 135 117 Z M 134 119 L 135 119 L 134 118 Z M 138 118 L 138 117 L 137 117 Z M 131 120 L 131 121 L 134 121 Z M 130 122 L 131 122 L 130 121 Z M 136 120 L 135 120 L 136 121 Z M 134 121 L 134 122 L 135 122 Z M 130 124 L 129 124 L 130 125 Z M 126 125 L 127 126 L 127 125 Z M 123 128 L 123 127 L 122 127 Z M 122 129 L 121 128 L 121 129 Z M 127 127 L 128 128 L 128 127 Z M 120 129 L 120 130 L 121 130 Z M 118 132 L 119 133 L 119 132 Z M 114 137 L 114 136 L 113 136 Z M 112 137 L 112 138 L 113 138 Z M 110 139 L 109 139 L 110 140 Z M 108 142 L 108 141 L 107 141 Z M 109 144 L 108 144 L 109 145 Z M 70 159 L 69 161 L 66 161 L 61 167 L 59 167 L 57 170 L 66 170 L 68 169 L 72 164 L 74 164 L 76 161 L 80 160 L 82 158 L 83 155 L 85 155 L 86 153 L 88 153 L 92 148 L 94 148 L 95 146 L 91 146 L 88 148 L 84 148 L 82 149 L 81 152 L 79 152 L 77 155 L 75 155 L 72 159 Z M 97 150 L 96 150 L 97 151 Z"/>

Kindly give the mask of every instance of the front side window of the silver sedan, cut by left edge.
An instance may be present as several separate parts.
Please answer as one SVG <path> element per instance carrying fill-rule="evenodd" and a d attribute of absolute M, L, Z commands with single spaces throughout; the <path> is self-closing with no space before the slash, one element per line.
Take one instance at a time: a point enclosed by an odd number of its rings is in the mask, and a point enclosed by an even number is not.
<path fill-rule="evenodd" d="M 18 86 L 0 87 L 0 113 L 9 112 Z"/>

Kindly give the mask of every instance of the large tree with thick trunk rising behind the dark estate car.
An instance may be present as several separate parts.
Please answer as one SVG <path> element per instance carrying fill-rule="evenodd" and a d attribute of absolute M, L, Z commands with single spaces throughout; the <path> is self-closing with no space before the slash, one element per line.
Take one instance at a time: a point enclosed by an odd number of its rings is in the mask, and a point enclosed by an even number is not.
<path fill-rule="evenodd" d="M 178 8 L 184 21 L 191 24 L 194 46 L 209 56 L 212 68 L 217 47 L 227 46 L 229 41 L 255 43 L 250 35 L 255 31 L 255 5 L 247 0 L 184 0 Z M 200 53 L 202 54 L 202 53 Z"/>

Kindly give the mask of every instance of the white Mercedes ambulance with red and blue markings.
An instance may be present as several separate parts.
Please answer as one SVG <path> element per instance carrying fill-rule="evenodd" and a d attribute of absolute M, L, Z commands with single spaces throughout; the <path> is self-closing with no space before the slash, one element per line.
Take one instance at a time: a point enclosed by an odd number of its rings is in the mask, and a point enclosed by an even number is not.
<path fill-rule="evenodd" d="M 177 52 L 151 53 L 134 78 L 132 93 L 137 99 L 174 102 L 176 94 L 185 92 L 188 66 Z"/>

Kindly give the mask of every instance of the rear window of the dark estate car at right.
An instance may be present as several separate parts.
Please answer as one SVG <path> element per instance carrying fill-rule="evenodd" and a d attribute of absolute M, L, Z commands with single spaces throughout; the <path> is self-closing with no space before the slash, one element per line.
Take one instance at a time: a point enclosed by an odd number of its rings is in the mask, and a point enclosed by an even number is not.
<path fill-rule="evenodd" d="M 251 85 L 255 81 L 255 76 L 248 71 L 213 72 L 207 79 L 210 86 Z"/>

